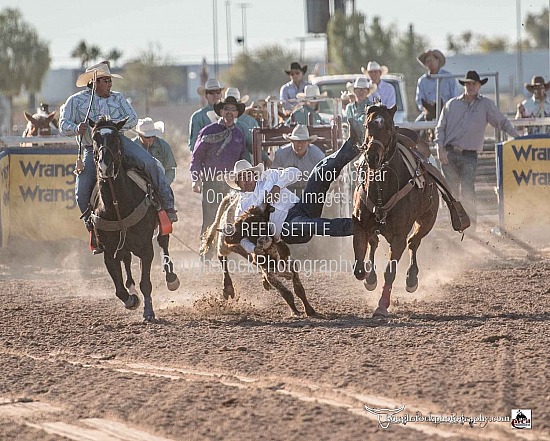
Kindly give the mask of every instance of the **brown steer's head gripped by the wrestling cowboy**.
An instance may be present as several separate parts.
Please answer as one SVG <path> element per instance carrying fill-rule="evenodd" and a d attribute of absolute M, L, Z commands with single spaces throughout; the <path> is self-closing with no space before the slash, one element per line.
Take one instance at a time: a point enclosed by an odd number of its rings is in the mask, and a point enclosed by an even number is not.
<path fill-rule="evenodd" d="M 231 228 L 224 229 L 225 242 L 228 245 L 236 245 L 242 239 L 250 239 L 251 242 L 256 243 L 258 238 L 264 236 L 273 236 L 271 224 L 269 222 L 269 215 L 275 211 L 271 205 L 266 206 L 253 205 L 231 226 Z"/>

